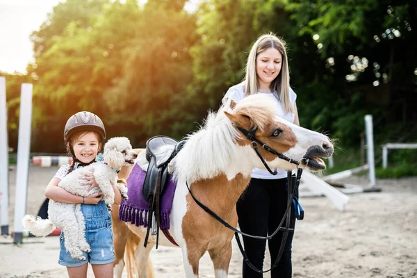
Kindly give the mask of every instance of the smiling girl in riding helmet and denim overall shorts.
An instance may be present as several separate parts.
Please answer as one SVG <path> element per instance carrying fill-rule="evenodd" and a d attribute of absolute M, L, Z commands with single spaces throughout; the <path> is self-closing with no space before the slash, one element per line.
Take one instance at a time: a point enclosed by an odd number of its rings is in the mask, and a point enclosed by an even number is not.
<path fill-rule="evenodd" d="M 84 167 L 95 162 L 97 154 L 103 147 L 106 130 L 101 119 L 90 112 L 83 111 L 72 115 L 67 120 L 64 130 L 64 142 L 67 151 L 72 155 L 72 164 L 63 165 L 56 172 L 45 190 L 45 196 L 56 202 L 82 204 L 81 211 L 85 218 L 85 239 L 90 244 L 91 252 L 86 253 L 86 261 L 72 258 L 65 250 L 65 234 L 60 235 L 60 265 L 67 267 L 69 277 L 87 277 L 88 263 L 91 263 L 95 277 L 113 277 L 113 261 L 115 260 L 113 248 L 113 230 L 111 215 L 102 197 L 92 194 L 81 197 L 58 187 L 58 183 L 68 173 L 78 167 Z M 85 186 L 90 190 L 97 186 L 92 173 L 85 174 Z M 120 191 L 113 186 L 115 204 L 120 204 L 122 197 Z"/>

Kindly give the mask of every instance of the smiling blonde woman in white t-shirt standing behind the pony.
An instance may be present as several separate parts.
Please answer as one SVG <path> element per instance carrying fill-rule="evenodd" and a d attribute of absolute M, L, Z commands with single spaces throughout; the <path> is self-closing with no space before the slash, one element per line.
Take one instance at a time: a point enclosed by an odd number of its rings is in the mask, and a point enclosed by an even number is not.
<path fill-rule="evenodd" d="M 285 42 L 275 35 L 261 35 L 256 40 L 247 58 L 244 81 L 229 88 L 222 103 L 230 105 L 232 100 L 238 102 L 253 94 L 270 97 L 271 101 L 277 104 L 279 115 L 282 118 L 300 125 L 295 104 L 297 95 L 289 84 Z M 277 229 L 287 208 L 286 184 L 287 173 L 285 170 L 277 169 L 277 175 L 272 175 L 265 169 L 255 168 L 252 171 L 250 184 L 240 197 L 236 207 L 241 231 L 256 236 L 267 236 Z M 295 227 L 294 209 L 291 210 L 290 227 Z M 277 259 L 282 236 L 283 233 L 280 231 L 268 241 L 272 264 Z M 271 277 L 291 277 L 292 241 L 293 233 L 290 232 L 284 253 L 277 267 L 271 271 Z M 244 236 L 243 243 L 250 262 L 256 268 L 262 269 L 266 240 Z M 243 277 L 263 277 L 263 275 L 243 263 Z"/>

